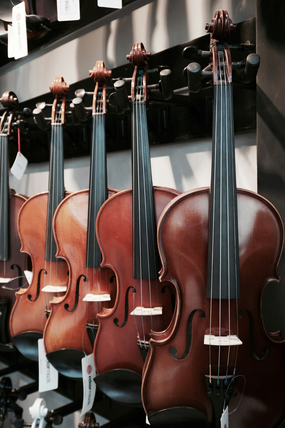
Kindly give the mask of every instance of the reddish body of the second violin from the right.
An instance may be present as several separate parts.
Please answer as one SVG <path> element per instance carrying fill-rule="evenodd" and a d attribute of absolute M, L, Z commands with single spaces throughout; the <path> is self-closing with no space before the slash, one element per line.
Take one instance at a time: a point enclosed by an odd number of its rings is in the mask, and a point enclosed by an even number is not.
<path fill-rule="evenodd" d="M 153 187 L 156 224 L 162 210 L 178 194 L 177 190 Z M 119 192 L 103 204 L 97 216 L 96 230 L 103 255 L 101 266 L 112 269 L 117 280 L 115 306 L 97 315 L 99 328 L 94 346 L 96 371 L 101 374 L 109 370 L 127 369 L 141 376 L 144 357 L 137 343 L 138 332 L 140 337 L 145 335 L 148 340 L 151 328 L 163 330 L 170 323 L 174 309 L 172 286 L 160 283 L 158 279 L 133 279 L 132 190 Z M 150 300 L 152 307 L 162 306 L 162 315 L 130 314 L 133 307 L 149 307 Z"/>

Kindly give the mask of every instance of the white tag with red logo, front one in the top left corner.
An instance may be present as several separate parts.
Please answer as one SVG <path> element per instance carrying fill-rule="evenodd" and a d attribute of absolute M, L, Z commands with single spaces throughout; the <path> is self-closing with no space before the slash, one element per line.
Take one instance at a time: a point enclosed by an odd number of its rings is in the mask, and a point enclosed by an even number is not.
<path fill-rule="evenodd" d="M 25 2 L 12 8 L 12 30 L 15 59 L 28 55 Z"/>

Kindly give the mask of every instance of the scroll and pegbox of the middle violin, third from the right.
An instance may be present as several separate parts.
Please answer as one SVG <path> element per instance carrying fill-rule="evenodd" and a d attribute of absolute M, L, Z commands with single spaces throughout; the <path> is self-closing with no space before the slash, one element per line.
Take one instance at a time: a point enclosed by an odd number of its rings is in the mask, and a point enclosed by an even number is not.
<path fill-rule="evenodd" d="M 107 110 L 106 91 L 107 80 L 111 77 L 112 70 L 105 67 L 103 61 L 97 61 L 93 70 L 89 70 L 89 76 L 94 78 L 96 83 L 94 92 L 85 91 L 85 89 L 77 89 L 75 97 L 72 100 L 76 116 L 81 121 L 86 121 L 90 118 L 91 114 L 102 113 L 105 114 Z M 83 98 L 88 95 L 93 95 L 92 107 L 85 107 Z"/>

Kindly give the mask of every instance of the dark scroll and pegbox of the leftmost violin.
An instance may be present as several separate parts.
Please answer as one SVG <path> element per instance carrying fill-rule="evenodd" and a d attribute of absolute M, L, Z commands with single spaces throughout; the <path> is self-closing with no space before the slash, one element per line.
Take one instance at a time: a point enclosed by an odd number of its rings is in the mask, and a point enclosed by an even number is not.
<path fill-rule="evenodd" d="M 0 103 L 5 108 L 2 116 L 0 116 L 0 131 L 6 135 L 13 135 L 15 128 L 19 128 L 22 134 L 28 132 L 28 124 L 21 117 L 29 118 L 32 112 L 25 107 L 19 111 L 19 101 L 17 95 L 12 91 L 6 91 L 0 98 Z"/>

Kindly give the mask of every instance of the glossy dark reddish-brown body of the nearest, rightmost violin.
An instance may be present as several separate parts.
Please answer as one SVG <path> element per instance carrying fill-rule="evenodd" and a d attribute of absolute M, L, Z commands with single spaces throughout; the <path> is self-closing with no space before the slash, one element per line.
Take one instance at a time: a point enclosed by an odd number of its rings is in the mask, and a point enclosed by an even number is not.
<path fill-rule="evenodd" d="M 229 415 L 229 426 L 277 427 L 285 418 L 284 340 L 279 332 L 267 333 L 264 329 L 261 298 L 268 282 L 279 281 L 276 268 L 283 245 L 283 224 L 276 208 L 262 196 L 238 189 L 237 200 L 241 298 L 237 303 L 231 300 L 230 306 L 232 310 L 238 305 L 238 338 L 242 345 L 238 345 L 238 351 L 232 345 L 230 352 L 228 346 L 221 346 L 220 357 L 227 361 L 229 352 L 230 373 L 237 351 L 237 396 L 229 400 L 229 413 L 238 408 Z M 160 279 L 175 285 L 177 305 L 169 327 L 164 332 L 151 332 L 142 400 L 149 417 L 163 409 L 192 407 L 216 427 L 205 385 L 209 345 L 204 345 L 204 335 L 209 334 L 211 310 L 211 300 L 206 298 L 209 204 L 209 188 L 190 190 L 173 199 L 159 221 Z M 173 245 L 173 237 L 178 247 Z M 234 317 L 229 329 L 228 300 L 221 300 L 220 313 L 223 336 L 236 334 Z M 217 314 L 219 300 L 213 299 L 212 334 L 219 330 Z M 212 345 L 211 353 L 214 377 L 218 375 L 213 365 L 218 360 L 218 346 Z M 277 373 L 278 383 L 272 388 Z M 226 365 L 221 365 L 220 376 L 225 375 Z"/>

